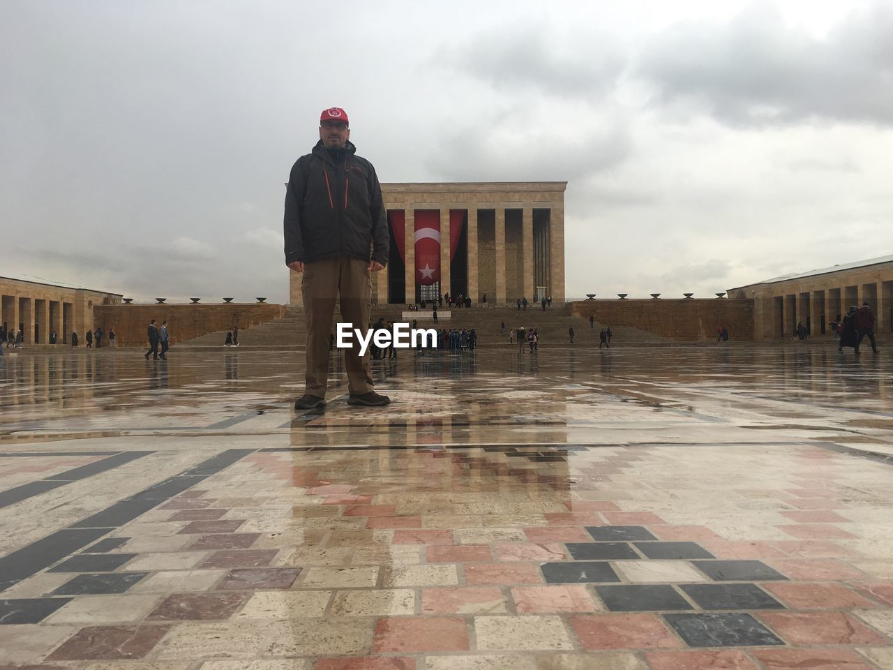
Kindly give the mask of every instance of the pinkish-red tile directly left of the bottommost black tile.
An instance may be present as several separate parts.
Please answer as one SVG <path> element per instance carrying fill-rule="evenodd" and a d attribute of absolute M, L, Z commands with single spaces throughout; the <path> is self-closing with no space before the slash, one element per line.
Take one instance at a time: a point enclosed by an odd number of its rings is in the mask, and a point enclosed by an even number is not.
<path fill-rule="evenodd" d="M 680 641 L 655 615 L 575 615 L 568 621 L 585 649 L 680 647 Z"/>

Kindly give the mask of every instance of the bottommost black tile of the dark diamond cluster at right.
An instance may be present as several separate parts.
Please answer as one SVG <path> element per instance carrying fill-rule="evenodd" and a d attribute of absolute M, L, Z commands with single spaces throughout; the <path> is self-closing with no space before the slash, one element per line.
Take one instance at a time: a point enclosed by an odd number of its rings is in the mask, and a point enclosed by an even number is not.
<path fill-rule="evenodd" d="M 663 615 L 689 647 L 753 647 L 784 644 L 753 616 L 729 614 Z"/>

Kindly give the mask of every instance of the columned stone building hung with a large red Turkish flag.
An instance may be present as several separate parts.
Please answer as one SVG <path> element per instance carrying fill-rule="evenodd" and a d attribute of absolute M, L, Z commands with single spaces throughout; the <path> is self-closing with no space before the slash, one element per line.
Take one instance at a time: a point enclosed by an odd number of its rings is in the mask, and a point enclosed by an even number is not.
<path fill-rule="evenodd" d="M 409 304 L 444 293 L 503 305 L 519 297 L 564 302 L 566 181 L 388 183 L 388 266 L 372 303 Z M 289 301 L 303 305 L 291 272 Z"/>

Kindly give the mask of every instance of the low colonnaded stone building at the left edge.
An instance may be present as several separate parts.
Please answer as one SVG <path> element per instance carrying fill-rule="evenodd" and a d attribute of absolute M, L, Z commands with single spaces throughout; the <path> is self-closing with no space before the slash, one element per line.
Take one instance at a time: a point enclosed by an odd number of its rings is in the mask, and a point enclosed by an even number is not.
<path fill-rule="evenodd" d="M 21 329 L 24 344 L 49 344 L 53 331 L 57 343 L 68 342 L 72 330 L 83 341 L 84 333 L 94 329 L 94 306 L 121 303 L 118 293 L 36 280 L 0 277 L 0 321 L 6 331 Z"/>

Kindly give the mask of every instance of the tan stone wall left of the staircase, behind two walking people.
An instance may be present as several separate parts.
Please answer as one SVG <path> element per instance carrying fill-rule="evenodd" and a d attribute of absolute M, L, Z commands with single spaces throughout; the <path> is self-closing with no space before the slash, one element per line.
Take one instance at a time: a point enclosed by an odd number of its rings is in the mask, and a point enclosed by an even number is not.
<path fill-rule="evenodd" d="M 145 347 L 146 327 L 151 319 L 155 319 L 158 326 L 166 319 L 171 344 L 179 344 L 208 332 L 226 330 L 234 324 L 244 329 L 280 319 L 287 309 L 284 305 L 266 303 L 98 305 L 93 308 L 93 321 L 96 326 L 102 326 L 105 333 L 114 326 L 119 347 Z"/>

